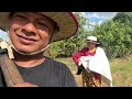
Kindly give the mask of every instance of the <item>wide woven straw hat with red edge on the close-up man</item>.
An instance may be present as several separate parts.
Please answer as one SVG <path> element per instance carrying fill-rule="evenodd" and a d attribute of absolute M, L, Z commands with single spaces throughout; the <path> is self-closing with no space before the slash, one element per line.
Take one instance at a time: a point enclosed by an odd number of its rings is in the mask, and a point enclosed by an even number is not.
<path fill-rule="evenodd" d="M 37 12 L 41 13 L 54 22 L 57 23 L 59 31 L 53 36 L 52 41 L 61 41 L 68 38 L 77 33 L 78 30 L 78 21 L 74 13 L 72 12 Z M 0 28 L 6 31 L 6 26 L 9 22 L 10 12 L 0 12 Z"/>

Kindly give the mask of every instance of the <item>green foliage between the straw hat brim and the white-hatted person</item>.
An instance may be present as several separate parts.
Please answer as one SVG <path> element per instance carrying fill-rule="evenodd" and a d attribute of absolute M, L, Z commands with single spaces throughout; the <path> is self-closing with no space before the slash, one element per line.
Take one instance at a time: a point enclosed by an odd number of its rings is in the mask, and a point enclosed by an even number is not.
<path fill-rule="evenodd" d="M 79 51 L 80 47 L 85 45 L 85 38 L 87 36 L 87 30 L 85 25 L 87 24 L 87 18 L 81 13 L 76 12 L 75 15 L 79 22 L 79 30 L 76 35 L 70 38 L 55 42 L 51 45 L 47 56 L 50 57 L 70 57 L 74 53 Z"/>

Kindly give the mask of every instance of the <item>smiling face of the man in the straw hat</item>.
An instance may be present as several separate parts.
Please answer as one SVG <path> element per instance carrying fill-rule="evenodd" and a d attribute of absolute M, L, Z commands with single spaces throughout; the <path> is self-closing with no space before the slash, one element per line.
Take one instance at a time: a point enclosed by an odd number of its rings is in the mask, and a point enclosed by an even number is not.
<path fill-rule="evenodd" d="M 15 12 L 10 19 L 9 36 L 20 52 L 32 53 L 44 48 L 51 40 L 54 23 L 33 12 Z"/>

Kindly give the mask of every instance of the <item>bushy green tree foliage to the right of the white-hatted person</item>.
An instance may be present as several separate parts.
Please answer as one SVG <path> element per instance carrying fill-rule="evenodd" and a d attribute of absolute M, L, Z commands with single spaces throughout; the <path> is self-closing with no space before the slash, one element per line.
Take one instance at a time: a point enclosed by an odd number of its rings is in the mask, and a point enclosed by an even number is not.
<path fill-rule="evenodd" d="M 109 58 L 132 53 L 132 29 L 124 23 L 108 20 L 96 26 L 92 34 L 102 43 Z"/>

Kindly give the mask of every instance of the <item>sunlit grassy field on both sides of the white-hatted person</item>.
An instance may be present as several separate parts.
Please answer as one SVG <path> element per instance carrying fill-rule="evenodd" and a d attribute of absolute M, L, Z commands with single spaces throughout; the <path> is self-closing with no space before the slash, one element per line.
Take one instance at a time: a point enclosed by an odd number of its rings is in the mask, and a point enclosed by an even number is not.
<path fill-rule="evenodd" d="M 56 58 L 56 61 L 66 64 L 70 70 L 76 73 L 76 65 L 72 58 Z M 132 87 L 132 55 L 127 58 L 110 61 L 113 87 Z M 81 77 L 75 75 L 78 86 L 81 86 Z M 102 82 L 102 86 L 103 85 Z"/>

